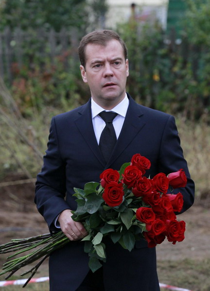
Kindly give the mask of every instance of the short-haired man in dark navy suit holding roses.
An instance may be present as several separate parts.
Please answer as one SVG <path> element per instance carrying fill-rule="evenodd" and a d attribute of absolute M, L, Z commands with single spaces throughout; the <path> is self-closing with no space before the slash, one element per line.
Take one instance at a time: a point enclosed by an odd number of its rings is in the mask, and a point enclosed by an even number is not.
<path fill-rule="evenodd" d="M 51 291 L 159 291 L 156 249 L 143 239 L 129 252 L 107 240 L 106 262 L 97 272 L 88 268 L 83 242 L 88 233 L 71 219 L 76 209 L 73 187 L 100 181 L 107 168 L 119 170 L 140 153 L 151 161 L 147 176 L 169 174 L 183 168 L 187 187 L 181 189 L 183 211 L 193 204 L 190 178 L 173 116 L 137 104 L 125 92 L 129 74 L 127 50 L 116 32 L 104 30 L 86 35 L 79 46 L 81 74 L 88 83 L 88 103 L 52 119 L 48 149 L 37 176 L 35 202 L 50 231 L 59 228 L 70 239 L 53 252 L 49 261 Z M 113 127 L 117 142 L 108 157 L 100 147 L 105 128 L 101 112 L 116 113 Z M 107 140 L 107 146 L 109 140 Z M 178 189 L 179 190 L 179 189 Z"/>

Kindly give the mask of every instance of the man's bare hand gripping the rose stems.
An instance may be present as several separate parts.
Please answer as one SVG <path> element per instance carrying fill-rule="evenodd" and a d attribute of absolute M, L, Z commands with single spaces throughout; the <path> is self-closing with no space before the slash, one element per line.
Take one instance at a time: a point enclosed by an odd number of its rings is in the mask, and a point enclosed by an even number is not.
<path fill-rule="evenodd" d="M 66 209 L 59 215 L 58 222 L 61 230 L 70 241 L 78 241 L 86 237 L 88 232 L 81 222 L 73 221 L 71 218 L 72 215 L 71 211 Z"/>

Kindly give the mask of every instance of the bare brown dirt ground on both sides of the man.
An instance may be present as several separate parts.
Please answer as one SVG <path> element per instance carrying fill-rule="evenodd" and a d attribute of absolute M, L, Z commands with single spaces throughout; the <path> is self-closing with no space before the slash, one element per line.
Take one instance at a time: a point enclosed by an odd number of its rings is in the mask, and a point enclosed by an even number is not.
<path fill-rule="evenodd" d="M 22 179 L 24 177 L 18 177 Z M 17 180 L 17 177 L 4 179 Z M 196 199 L 191 209 L 178 216 L 186 222 L 185 240 L 163 242 L 157 246 L 157 259 L 210 258 L 210 198 Z M 47 233 L 47 225 L 34 204 L 34 185 L 0 187 L 0 244 L 12 238 L 24 238 Z M 0 260 L 0 263 L 2 261 Z"/>

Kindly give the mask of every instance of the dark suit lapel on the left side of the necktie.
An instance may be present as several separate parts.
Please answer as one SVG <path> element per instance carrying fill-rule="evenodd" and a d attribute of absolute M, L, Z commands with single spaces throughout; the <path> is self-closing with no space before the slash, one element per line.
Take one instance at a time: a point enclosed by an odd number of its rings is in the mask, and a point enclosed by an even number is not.
<path fill-rule="evenodd" d="M 91 101 L 89 100 L 83 107 L 81 107 L 78 113 L 79 118 L 75 120 L 75 124 L 95 157 L 99 160 L 103 167 L 105 167 L 105 161 L 98 146 L 93 129 Z"/>

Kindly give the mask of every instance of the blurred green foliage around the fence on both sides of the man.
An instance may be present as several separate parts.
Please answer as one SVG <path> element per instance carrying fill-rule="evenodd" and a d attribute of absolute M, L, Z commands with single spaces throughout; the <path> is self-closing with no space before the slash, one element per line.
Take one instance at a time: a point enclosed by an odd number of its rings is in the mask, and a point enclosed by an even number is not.
<path fill-rule="evenodd" d="M 210 111 L 210 0 L 187 2 L 182 39 L 175 34 L 167 37 L 157 21 L 119 24 L 117 31 L 128 48 L 131 96 L 145 106 L 197 120 Z M 66 104 L 68 110 L 88 100 L 88 86 L 81 79 L 71 42 L 66 51 L 56 44 L 59 53 L 52 62 L 42 37 L 50 27 L 59 31 L 65 26 L 68 31 L 74 25 L 80 28 L 79 40 L 87 32 L 87 27 L 81 29 L 88 21 L 86 5 L 85 0 L 5 1 L 1 28 L 28 25 L 24 62 L 20 69 L 13 64 L 15 78 L 10 86 L 23 114 L 33 115 L 33 106 L 39 111 L 45 105 L 63 108 Z M 107 11 L 104 0 L 93 0 L 91 5 L 98 16 Z M 40 30 L 38 37 L 35 28 Z"/>

